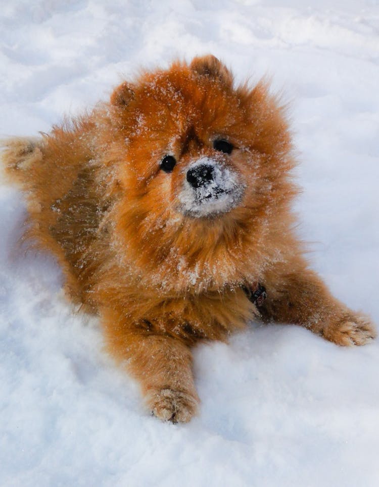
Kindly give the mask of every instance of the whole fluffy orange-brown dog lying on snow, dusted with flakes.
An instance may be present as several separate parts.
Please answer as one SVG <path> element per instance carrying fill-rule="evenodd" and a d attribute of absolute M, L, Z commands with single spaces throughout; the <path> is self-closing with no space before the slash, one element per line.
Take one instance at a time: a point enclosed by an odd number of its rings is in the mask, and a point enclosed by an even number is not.
<path fill-rule="evenodd" d="M 99 313 L 163 420 L 196 413 L 191 348 L 251 319 L 345 346 L 375 335 L 308 268 L 282 107 L 213 56 L 124 82 L 89 115 L 8 141 L 3 158 L 27 197 L 26 236 L 56 255 L 68 295 Z"/>

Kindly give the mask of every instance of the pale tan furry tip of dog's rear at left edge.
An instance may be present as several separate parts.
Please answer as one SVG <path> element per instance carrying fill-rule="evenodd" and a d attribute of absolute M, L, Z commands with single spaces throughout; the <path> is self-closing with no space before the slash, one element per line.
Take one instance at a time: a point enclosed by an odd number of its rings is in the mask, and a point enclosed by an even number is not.
<path fill-rule="evenodd" d="M 33 173 L 43 158 L 42 138 L 14 137 L 0 141 L 1 158 L 6 179 L 28 189 Z M 29 184 L 28 184 L 29 183 Z"/>

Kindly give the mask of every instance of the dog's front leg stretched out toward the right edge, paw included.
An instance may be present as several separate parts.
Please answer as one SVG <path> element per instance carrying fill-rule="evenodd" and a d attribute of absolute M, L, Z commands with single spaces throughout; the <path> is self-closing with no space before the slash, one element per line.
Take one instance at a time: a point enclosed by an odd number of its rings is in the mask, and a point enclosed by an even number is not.
<path fill-rule="evenodd" d="M 364 345 L 376 336 L 370 319 L 334 298 L 305 262 L 276 268 L 267 275 L 266 320 L 300 324 L 338 345 Z"/>

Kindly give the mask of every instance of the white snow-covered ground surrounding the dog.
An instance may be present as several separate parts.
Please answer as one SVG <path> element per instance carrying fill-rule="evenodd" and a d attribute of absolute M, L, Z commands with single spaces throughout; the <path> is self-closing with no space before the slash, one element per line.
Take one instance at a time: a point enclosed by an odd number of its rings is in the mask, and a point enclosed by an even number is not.
<path fill-rule="evenodd" d="M 13 0 L 0 9 L 0 135 L 49 131 L 140 66 L 212 52 L 291 102 L 302 237 L 334 293 L 379 324 L 377 0 Z M 379 485 L 379 340 L 342 349 L 252 324 L 195 353 L 201 412 L 172 425 L 16 249 L 0 186 L 0 485 Z"/>

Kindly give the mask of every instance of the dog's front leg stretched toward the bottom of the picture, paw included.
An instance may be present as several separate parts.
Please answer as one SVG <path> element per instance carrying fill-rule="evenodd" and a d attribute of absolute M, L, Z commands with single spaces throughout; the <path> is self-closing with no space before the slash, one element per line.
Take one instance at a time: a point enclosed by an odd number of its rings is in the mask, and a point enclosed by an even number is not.
<path fill-rule="evenodd" d="M 199 404 L 189 347 L 163 334 L 114 323 L 105 321 L 110 352 L 126 361 L 152 414 L 165 421 L 189 421 Z"/>

